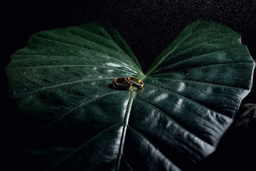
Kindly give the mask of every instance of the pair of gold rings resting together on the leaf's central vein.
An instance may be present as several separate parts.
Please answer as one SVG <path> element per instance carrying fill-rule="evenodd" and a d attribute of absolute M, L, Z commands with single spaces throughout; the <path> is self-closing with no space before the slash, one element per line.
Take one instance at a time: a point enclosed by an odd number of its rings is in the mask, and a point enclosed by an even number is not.
<path fill-rule="evenodd" d="M 134 80 L 137 83 L 134 83 L 134 81 L 131 81 L 131 80 Z M 115 85 L 115 87 L 122 88 L 122 89 L 130 89 L 133 86 L 137 88 L 142 88 L 144 85 L 142 80 L 134 76 L 128 76 L 127 78 L 117 77 L 114 79 L 113 84 Z"/>

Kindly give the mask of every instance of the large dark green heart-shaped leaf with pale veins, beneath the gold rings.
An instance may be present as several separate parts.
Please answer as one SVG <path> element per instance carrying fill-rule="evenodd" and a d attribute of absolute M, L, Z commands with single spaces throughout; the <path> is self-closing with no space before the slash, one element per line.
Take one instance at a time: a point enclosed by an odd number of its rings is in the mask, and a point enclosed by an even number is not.
<path fill-rule="evenodd" d="M 144 75 L 115 29 L 90 23 L 34 34 L 6 71 L 34 170 L 179 170 L 215 150 L 254 65 L 238 33 L 196 21 Z M 145 86 L 112 86 L 127 76 Z"/>

